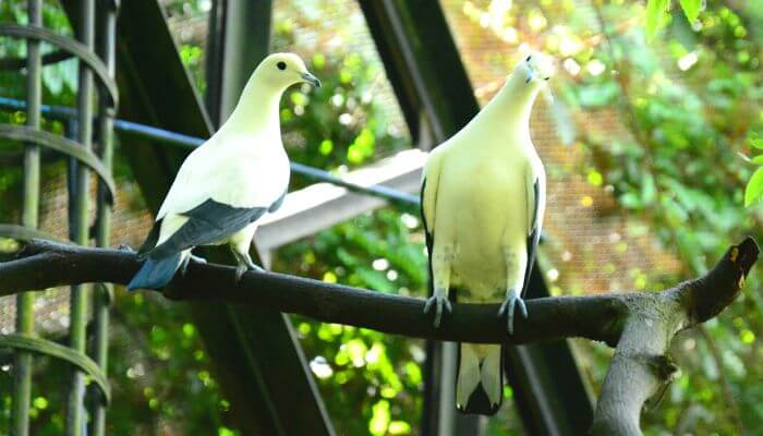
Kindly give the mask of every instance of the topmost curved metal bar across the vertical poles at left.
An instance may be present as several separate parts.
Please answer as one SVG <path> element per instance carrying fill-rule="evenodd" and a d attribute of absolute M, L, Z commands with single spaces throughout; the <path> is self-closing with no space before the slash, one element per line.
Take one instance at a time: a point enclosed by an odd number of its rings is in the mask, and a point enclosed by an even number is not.
<path fill-rule="evenodd" d="M 39 26 L 20 26 L 17 24 L 3 24 L 0 25 L 0 36 L 10 36 L 15 38 L 26 38 L 26 39 L 38 39 L 63 50 L 69 51 L 75 57 L 80 58 L 87 66 L 93 70 L 100 83 L 108 90 L 108 98 L 110 99 L 110 106 L 117 107 L 119 101 L 117 82 L 109 77 L 109 70 L 106 68 L 104 62 L 101 62 L 98 57 L 85 47 L 82 43 L 71 39 L 66 36 L 56 34 L 48 31 L 45 27 Z"/>

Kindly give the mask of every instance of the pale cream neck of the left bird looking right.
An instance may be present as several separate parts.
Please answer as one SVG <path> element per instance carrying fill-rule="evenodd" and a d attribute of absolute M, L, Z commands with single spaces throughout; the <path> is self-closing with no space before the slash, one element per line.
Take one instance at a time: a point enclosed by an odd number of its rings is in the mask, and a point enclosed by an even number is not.
<path fill-rule="evenodd" d="M 237 133 L 268 132 L 280 135 L 279 107 L 286 88 L 272 88 L 253 75 L 244 86 L 239 102 L 220 130 Z"/>

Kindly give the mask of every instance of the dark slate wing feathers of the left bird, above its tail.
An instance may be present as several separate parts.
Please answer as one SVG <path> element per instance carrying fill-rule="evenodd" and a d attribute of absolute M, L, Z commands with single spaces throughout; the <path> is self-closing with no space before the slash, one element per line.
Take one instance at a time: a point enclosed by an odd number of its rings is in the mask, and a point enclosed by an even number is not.
<path fill-rule="evenodd" d="M 167 241 L 154 249 L 149 256 L 166 257 L 197 245 L 222 241 L 262 217 L 268 207 L 233 207 L 211 198 L 180 214 L 189 220 Z"/>

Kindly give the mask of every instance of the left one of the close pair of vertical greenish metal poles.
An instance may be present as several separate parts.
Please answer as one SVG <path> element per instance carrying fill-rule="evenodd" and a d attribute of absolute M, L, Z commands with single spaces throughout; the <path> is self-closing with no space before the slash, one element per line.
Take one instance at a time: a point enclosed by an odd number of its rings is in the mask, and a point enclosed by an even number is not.
<path fill-rule="evenodd" d="M 94 14 L 95 0 L 83 0 L 80 10 L 80 41 L 90 50 L 94 48 Z M 93 146 L 93 73 L 85 62 L 80 62 L 78 86 L 77 86 L 77 138 L 83 147 Z M 77 165 L 76 169 L 76 192 L 74 205 L 74 242 L 87 245 L 89 242 L 88 226 L 88 195 L 90 174 L 86 166 Z M 74 351 L 85 353 L 85 325 L 87 323 L 87 294 L 88 287 L 72 287 L 70 302 L 70 346 Z M 66 404 L 66 435 L 80 436 L 84 433 L 86 425 L 85 408 L 83 400 L 85 397 L 85 375 L 74 370 L 69 391 L 69 402 Z"/>

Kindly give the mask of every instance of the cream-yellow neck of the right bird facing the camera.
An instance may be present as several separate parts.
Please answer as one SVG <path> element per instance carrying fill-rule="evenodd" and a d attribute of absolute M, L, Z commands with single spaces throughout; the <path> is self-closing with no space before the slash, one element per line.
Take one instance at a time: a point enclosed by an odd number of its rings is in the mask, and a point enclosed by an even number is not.
<path fill-rule="evenodd" d="M 524 77 L 512 73 L 474 118 L 475 123 L 484 123 L 485 129 L 506 138 L 507 146 L 523 145 L 530 138 L 530 114 L 540 88 L 537 83 L 525 83 Z"/>

